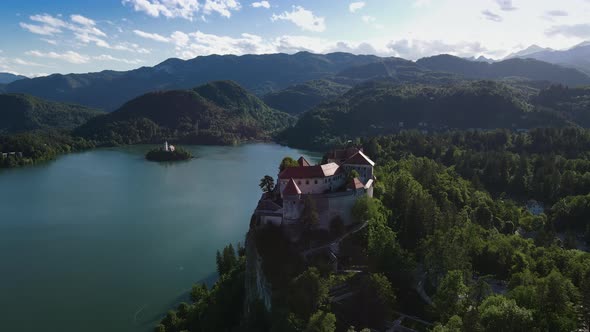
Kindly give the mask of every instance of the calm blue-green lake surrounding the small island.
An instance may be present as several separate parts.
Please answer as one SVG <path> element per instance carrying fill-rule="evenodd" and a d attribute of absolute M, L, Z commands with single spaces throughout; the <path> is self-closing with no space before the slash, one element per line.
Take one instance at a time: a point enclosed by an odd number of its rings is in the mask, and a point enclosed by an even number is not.
<path fill-rule="evenodd" d="M 151 147 L 98 149 L 0 170 L 0 330 L 151 331 L 215 252 L 244 241 L 275 144 L 189 146 L 195 159 L 144 160 Z"/>

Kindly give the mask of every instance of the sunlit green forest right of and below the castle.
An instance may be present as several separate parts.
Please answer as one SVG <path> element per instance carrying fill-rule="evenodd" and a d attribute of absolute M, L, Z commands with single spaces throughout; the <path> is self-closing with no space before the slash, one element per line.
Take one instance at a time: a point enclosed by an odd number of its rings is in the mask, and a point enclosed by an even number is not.
<path fill-rule="evenodd" d="M 377 163 L 375 197 L 353 210 L 368 226 L 341 244 L 343 268 L 362 272 L 303 263 L 280 231 L 251 230 L 273 285 L 271 312 L 249 303 L 223 326 L 203 323 L 236 305 L 228 298 L 245 299 L 245 258 L 226 248 L 220 281 L 195 286 L 213 295 L 181 304 L 157 330 L 383 330 L 400 319 L 438 332 L 588 326 L 590 131 L 404 132 L 352 144 Z M 527 210 L 531 199 L 543 213 Z M 335 301 L 338 289 L 351 297 Z"/>

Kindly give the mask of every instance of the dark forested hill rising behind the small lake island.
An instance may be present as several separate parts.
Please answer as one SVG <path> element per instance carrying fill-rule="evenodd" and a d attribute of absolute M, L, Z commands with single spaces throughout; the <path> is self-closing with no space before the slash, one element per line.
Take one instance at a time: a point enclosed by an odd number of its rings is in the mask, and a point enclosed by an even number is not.
<path fill-rule="evenodd" d="M 231 81 L 191 90 L 151 92 L 92 119 L 76 135 L 101 144 L 233 144 L 269 139 L 294 119 L 275 111 Z"/>

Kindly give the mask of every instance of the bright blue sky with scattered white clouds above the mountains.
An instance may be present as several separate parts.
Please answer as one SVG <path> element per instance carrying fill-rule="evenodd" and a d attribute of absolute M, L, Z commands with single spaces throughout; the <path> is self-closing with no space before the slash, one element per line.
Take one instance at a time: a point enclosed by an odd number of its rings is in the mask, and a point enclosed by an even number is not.
<path fill-rule="evenodd" d="M 590 40 L 590 0 L 2 0 L 0 72 L 129 70 L 210 54 L 500 59 Z"/>

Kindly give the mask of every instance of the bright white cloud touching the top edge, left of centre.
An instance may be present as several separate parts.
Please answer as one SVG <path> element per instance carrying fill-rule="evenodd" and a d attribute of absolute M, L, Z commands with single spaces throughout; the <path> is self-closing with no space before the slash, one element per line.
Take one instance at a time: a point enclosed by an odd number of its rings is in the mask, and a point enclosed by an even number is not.
<path fill-rule="evenodd" d="M 231 11 L 241 8 L 237 0 L 204 0 L 202 5 L 197 0 L 123 0 L 123 4 L 130 4 L 135 11 L 152 17 L 180 17 L 191 21 L 199 11 L 230 17 Z"/>

